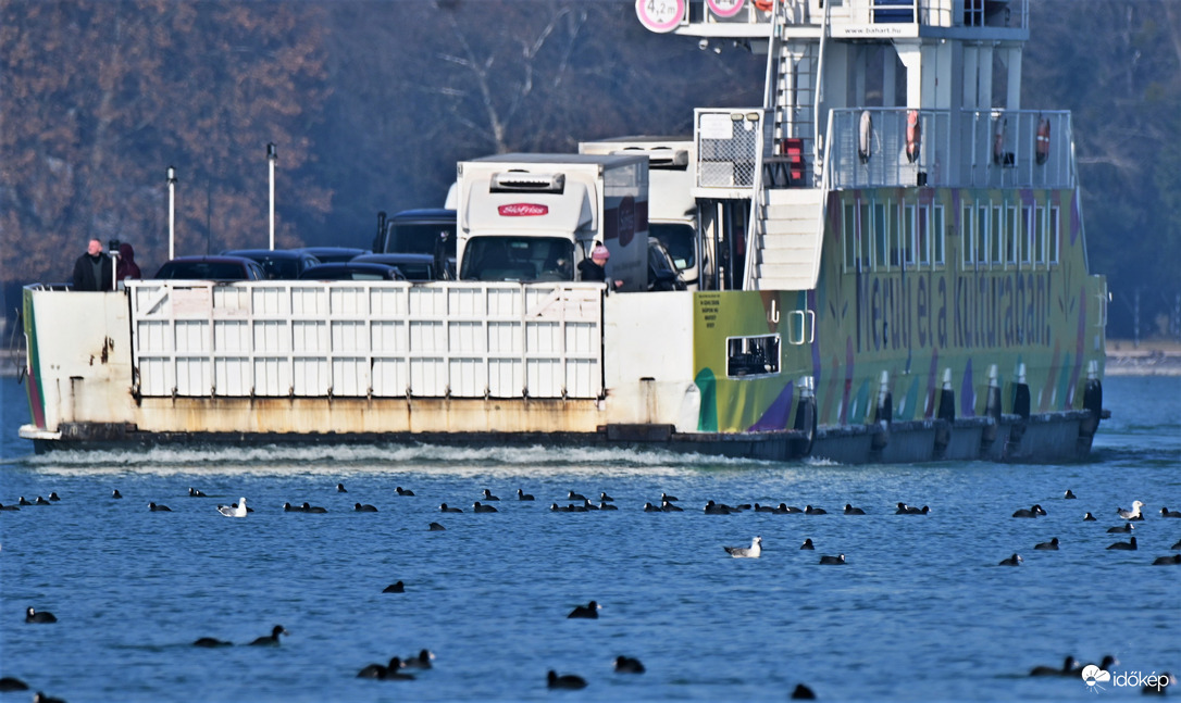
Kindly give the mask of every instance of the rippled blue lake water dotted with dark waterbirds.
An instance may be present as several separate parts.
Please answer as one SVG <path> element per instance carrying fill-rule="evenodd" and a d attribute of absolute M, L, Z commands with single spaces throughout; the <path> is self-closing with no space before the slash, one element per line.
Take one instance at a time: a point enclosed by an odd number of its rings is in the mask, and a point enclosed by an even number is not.
<path fill-rule="evenodd" d="M 1092 460 L 1065 466 L 417 446 L 33 456 L 15 436 L 22 388 L 0 385 L 0 502 L 61 497 L 0 513 L 0 676 L 71 703 L 783 701 L 797 683 L 822 701 L 1083 701 L 1081 677 L 1029 670 L 1115 655 L 1101 698 L 1140 695 L 1120 674 L 1181 674 L 1181 567 L 1150 565 L 1181 540 L 1181 519 L 1160 515 L 1181 510 L 1177 377 L 1108 379 Z M 472 513 L 483 488 L 498 513 Z M 620 510 L 549 512 L 570 490 Z M 685 512 L 645 513 L 661 492 Z M 239 497 L 256 512 L 217 513 Z M 706 515 L 709 499 L 831 514 Z M 1140 548 L 1107 550 L 1128 538 L 1107 533 L 1116 506 L 1137 499 Z M 894 515 L 898 501 L 932 512 Z M 840 514 L 846 502 L 869 514 Z M 1035 502 L 1049 514 L 1010 517 Z M 759 559 L 722 548 L 756 534 Z M 1059 551 L 1033 551 L 1052 537 Z M 1022 566 L 998 566 L 1013 552 Z M 817 564 L 840 553 L 843 566 Z M 405 593 L 381 592 L 396 580 Z M 567 619 L 590 599 L 598 620 Z M 59 622 L 26 624 L 28 606 Z M 289 631 L 280 646 L 241 646 L 275 624 Z M 235 646 L 193 646 L 202 636 Z M 422 648 L 437 658 L 416 681 L 355 678 Z M 647 672 L 615 674 L 616 655 Z M 549 691 L 549 669 L 589 685 Z"/>

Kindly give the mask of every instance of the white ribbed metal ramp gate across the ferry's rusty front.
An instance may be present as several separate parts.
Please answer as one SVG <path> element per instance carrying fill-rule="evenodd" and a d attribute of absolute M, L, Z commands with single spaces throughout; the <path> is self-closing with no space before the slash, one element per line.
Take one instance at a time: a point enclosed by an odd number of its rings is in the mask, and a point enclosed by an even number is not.
<path fill-rule="evenodd" d="M 601 398 L 601 284 L 129 282 L 139 396 Z"/>

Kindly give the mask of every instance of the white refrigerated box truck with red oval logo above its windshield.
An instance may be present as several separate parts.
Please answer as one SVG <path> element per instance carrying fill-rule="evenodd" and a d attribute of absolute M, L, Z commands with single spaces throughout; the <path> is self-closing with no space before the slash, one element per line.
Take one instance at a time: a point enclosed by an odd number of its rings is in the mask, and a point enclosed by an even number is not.
<path fill-rule="evenodd" d="M 601 243 L 612 288 L 647 289 L 646 156 L 488 156 L 459 162 L 457 186 L 461 281 L 580 280 Z"/>

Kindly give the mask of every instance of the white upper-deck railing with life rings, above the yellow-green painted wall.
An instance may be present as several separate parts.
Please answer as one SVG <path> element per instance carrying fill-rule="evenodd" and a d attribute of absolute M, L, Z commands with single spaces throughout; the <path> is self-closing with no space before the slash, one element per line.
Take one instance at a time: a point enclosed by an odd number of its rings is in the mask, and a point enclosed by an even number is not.
<path fill-rule="evenodd" d="M 908 153 L 911 112 L 920 130 Z M 833 110 L 826 147 L 833 189 L 1075 186 L 1069 111 Z"/>

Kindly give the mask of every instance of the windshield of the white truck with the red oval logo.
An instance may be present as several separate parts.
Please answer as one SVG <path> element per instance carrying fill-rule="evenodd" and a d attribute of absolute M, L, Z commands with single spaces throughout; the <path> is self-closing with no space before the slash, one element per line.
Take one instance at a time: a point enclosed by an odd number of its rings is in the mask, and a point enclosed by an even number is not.
<path fill-rule="evenodd" d="M 463 252 L 462 281 L 573 281 L 574 243 L 560 237 L 476 237 Z"/>

